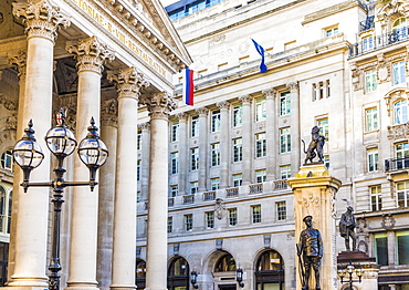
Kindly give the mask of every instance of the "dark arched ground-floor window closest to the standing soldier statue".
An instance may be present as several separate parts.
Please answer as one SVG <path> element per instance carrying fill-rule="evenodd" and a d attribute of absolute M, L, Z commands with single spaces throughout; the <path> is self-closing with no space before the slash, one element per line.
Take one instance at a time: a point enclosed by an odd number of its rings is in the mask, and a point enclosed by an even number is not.
<path fill-rule="evenodd" d="M 275 250 L 264 251 L 255 263 L 255 283 L 258 290 L 284 290 L 284 261 Z"/>

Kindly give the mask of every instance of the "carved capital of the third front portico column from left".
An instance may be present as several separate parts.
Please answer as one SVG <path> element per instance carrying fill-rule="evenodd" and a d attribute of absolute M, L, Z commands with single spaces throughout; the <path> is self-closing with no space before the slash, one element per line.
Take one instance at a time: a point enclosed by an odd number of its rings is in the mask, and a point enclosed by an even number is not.
<path fill-rule="evenodd" d="M 109 71 L 106 79 L 109 82 L 116 83 L 118 99 L 133 97 L 138 100 L 140 89 L 148 87 L 150 85 L 145 75 L 138 72 L 134 66 Z"/>

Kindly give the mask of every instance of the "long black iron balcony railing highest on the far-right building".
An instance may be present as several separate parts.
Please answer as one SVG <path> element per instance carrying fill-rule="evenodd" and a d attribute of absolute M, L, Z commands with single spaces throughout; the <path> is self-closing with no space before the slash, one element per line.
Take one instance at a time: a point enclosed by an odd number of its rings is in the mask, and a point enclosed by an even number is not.
<path fill-rule="evenodd" d="M 409 40 L 409 28 L 407 27 L 396 30 L 391 33 L 373 37 L 371 40 L 365 39 L 349 48 L 349 58 L 355 58 L 371 51 L 380 50 L 407 40 Z"/>

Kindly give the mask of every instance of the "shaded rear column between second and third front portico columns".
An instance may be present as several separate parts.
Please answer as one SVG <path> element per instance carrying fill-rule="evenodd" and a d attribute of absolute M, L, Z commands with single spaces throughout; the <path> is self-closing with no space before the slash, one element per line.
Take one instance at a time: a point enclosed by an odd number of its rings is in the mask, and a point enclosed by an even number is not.
<path fill-rule="evenodd" d="M 104 101 L 101 105 L 101 139 L 111 153 L 116 152 L 118 102 Z M 112 156 L 112 155 L 111 155 Z M 108 158 L 99 168 L 98 238 L 96 258 L 96 280 L 102 290 L 109 289 L 112 272 L 113 220 L 115 196 L 116 158 Z"/>

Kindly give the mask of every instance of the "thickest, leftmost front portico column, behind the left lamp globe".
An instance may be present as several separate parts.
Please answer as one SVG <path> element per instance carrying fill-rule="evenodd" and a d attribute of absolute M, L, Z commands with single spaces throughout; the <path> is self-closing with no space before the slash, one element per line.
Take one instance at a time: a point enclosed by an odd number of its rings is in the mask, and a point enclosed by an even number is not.
<path fill-rule="evenodd" d="M 20 135 L 17 137 L 21 138 L 22 130 L 32 118 L 36 141 L 43 149 L 45 160 L 40 168 L 32 172 L 31 180 L 45 182 L 50 180 L 50 151 L 43 136 L 51 127 L 54 41 L 57 29 L 69 27 L 70 21 L 60 13 L 59 8 L 52 7 L 48 1 L 13 3 L 13 14 L 24 18 L 28 34 L 25 86 L 21 89 L 24 93 L 20 91 L 23 103 L 19 104 L 22 111 L 19 111 Z M 14 176 L 14 184 L 20 184 L 19 178 L 21 173 Z M 21 189 L 14 191 L 13 198 L 17 197 L 19 201 L 14 224 L 17 238 L 13 239 L 15 255 L 10 256 L 14 259 L 14 267 L 10 269 L 13 271 L 10 287 L 48 287 L 45 269 L 49 191 L 49 188 L 41 187 L 29 188 L 27 194 Z"/>

